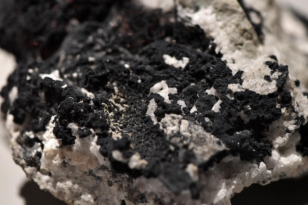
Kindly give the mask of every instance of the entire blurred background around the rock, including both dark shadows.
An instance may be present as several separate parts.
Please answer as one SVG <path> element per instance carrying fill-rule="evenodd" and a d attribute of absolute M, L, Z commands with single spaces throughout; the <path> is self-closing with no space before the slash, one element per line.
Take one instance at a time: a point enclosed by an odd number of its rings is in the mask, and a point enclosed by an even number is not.
<path fill-rule="evenodd" d="M 291 5 L 308 17 L 308 0 L 278 0 Z M 0 50 L 0 88 L 15 66 L 14 57 Z M 2 99 L 1 99 L 2 100 Z M 253 185 L 237 195 L 232 205 L 308 205 L 308 177 L 274 182 L 260 188 Z M 307 192 L 307 193 L 306 193 Z M 9 149 L 9 136 L 0 120 L 0 205 L 65 205 L 52 195 L 39 190 L 17 166 Z"/>

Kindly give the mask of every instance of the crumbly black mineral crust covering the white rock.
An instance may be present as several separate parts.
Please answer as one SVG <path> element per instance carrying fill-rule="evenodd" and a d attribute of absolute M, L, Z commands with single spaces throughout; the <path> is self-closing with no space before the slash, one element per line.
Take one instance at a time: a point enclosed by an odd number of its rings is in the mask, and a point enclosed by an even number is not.
<path fill-rule="evenodd" d="M 21 60 L 1 91 L 5 99 L 1 111 L 12 114 L 15 123 L 25 125 L 19 137 L 25 149 L 42 144 L 34 140 L 35 133 L 46 130 L 51 117 L 56 116 L 53 133 L 62 146 L 75 143 L 76 137 L 67 127 L 69 123 L 78 124 L 81 138 L 87 138 L 93 129 L 99 151 L 111 161 L 113 172 L 157 177 L 172 192 L 179 194 L 189 189 L 194 198 L 198 198 L 203 184 L 193 181 L 185 171 L 189 163 L 206 170 L 228 154 L 240 155 L 248 162 L 260 162 L 271 155 L 267 131 L 281 116 L 277 100 L 282 96 L 280 104 L 290 106 L 290 93 L 282 89 L 288 73 L 286 66 L 275 59 L 264 62 L 273 72 L 282 73 L 277 80 L 277 92 L 261 95 L 246 89 L 232 93 L 228 85 L 242 84 L 243 71 L 232 75 L 221 60 L 222 55 L 215 52 L 214 39 L 206 37 L 198 26 L 185 26 L 183 19 L 172 23 L 173 12 L 145 11 L 129 1 L 59 2 L 62 1 L 35 1 L 27 7 L 28 1 L 16 0 L 13 16 L 6 18 L 7 24 L 18 26 L 0 30 L 1 46 L 7 48 L 5 42 L 14 35 L 20 42 L 10 51 L 19 59 L 29 55 L 34 59 Z M 40 11 L 44 9 L 48 12 L 43 14 Z M 33 13 L 38 14 L 38 22 L 30 24 Z M 69 23 L 71 18 L 79 20 L 79 24 Z M 21 23 L 13 24 L 16 21 Z M 50 22 L 56 22 L 56 29 L 50 27 Z M 25 27 L 29 24 L 31 27 Z M 0 28 L 4 26 L 2 22 Z M 183 69 L 176 68 L 166 64 L 164 55 L 178 60 L 185 57 L 189 62 Z M 56 71 L 60 80 L 43 77 Z M 269 76 L 265 79 L 271 81 Z M 160 94 L 150 92 L 162 81 L 168 88 L 177 89 L 177 93 L 168 95 L 170 103 Z M 18 88 L 18 96 L 10 102 L 13 87 Z M 212 87 L 220 93 L 219 97 L 207 93 Z M 84 89 L 94 97 L 87 96 Z M 146 114 L 152 99 L 157 104 L 156 124 Z M 184 101 L 185 107 L 178 100 Z M 218 100 L 220 109 L 215 112 L 212 108 Z M 191 112 L 194 107 L 197 111 Z M 241 112 L 249 118 L 248 122 L 238 115 Z M 184 142 L 172 143 L 160 129 L 159 122 L 171 114 L 200 125 L 219 139 L 218 146 L 226 148 L 209 160 L 198 160 Z M 120 132 L 122 138 L 115 140 L 110 130 Z M 33 131 L 34 138 L 25 134 L 28 131 Z M 174 137 L 183 136 L 177 133 Z M 113 150 L 120 150 L 124 158 L 139 153 L 148 165 L 130 169 L 112 157 Z M 41 154 L 31 157 L 26 159 L 28 166 L 39 170 Z"/>

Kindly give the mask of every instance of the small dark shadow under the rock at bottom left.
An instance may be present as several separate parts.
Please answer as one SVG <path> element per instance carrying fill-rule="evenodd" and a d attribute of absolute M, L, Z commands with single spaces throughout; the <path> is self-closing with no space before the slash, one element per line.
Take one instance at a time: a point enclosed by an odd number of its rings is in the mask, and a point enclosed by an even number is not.
<path fill-rule="evenodd" d="M 31 180 L 23 184 L 19 194 L 25 199 L 25 205 L 67 205 L 49 192 L 40 190 L 38 185 Z"/>

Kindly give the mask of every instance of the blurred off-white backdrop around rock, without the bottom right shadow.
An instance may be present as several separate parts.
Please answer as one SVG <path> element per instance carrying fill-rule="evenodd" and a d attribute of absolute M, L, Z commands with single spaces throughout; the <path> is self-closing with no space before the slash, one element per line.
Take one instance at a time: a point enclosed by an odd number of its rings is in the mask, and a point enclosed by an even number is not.
<path fill-rule="evenodd" d="M 278 1 L 289 4 L 308 16 L 308 0 Z M 0 50 L 0 88 L 5 85 L 6 78 L 15 65 L 13 59 L 13 56 Z M 64 205 L 64 203 L 53 199 L 51 195 L 39 191 L 33 182 L 26 178 L 22 169 L 14 164 L 10 155 L 8 134 L 5 131 L 4 122 L 0 122 L 0 205 Z M 26 197 L 27 201 L 25 196 L 28 196 Z"/>

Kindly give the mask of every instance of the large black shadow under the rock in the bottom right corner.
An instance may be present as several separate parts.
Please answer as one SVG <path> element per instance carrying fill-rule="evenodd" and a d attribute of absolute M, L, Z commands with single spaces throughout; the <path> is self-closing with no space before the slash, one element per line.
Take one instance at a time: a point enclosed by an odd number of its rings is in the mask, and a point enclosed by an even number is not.
<path fill-rule="evenodd" d="M 231 199 L 232 205 L 308 205 L 308 176 L 268 185 L 252 184 Z"/>

